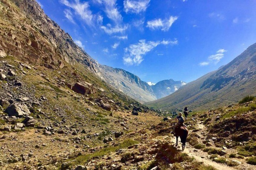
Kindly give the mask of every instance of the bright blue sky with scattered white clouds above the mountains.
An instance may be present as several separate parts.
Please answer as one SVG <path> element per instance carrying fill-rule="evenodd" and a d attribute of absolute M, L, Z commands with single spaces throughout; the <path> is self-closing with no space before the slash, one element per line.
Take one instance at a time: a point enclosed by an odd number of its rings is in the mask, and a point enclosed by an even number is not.
<path fill-rule="evenodd" d="M 191 82 L 256 42 L 255 0 L 37 0 L 99 63 Z"/>

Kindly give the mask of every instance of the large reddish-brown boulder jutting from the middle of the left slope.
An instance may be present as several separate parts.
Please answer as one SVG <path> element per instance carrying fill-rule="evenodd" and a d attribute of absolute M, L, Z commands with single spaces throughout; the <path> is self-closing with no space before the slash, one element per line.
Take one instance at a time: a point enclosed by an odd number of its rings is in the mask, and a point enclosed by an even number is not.
<path fill-rule="evenodd" d="M 88 82 L 77 82 L 74 86 L 71 87 L 73 91 L 80 93 L 80 94 L 95 94 L 97 89 L 93 87 Z"/>

